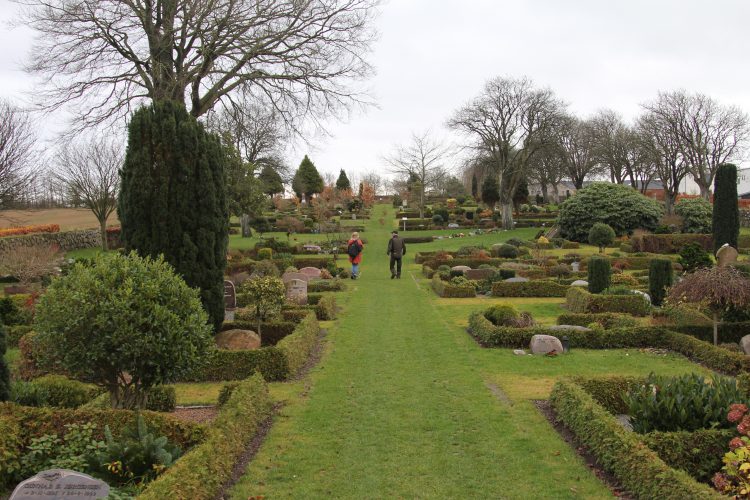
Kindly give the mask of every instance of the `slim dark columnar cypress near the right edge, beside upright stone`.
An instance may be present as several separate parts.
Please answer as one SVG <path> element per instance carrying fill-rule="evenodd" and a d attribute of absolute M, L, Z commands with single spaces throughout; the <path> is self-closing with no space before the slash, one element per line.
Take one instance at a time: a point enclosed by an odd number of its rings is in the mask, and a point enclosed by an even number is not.
<path fill-rule="evenodd" d="M 719 165 L 714 178 L 714 252 L 725 243 L 737 248 L 740 236 L 740 209 L 737 204 L 737 167 Z"/>

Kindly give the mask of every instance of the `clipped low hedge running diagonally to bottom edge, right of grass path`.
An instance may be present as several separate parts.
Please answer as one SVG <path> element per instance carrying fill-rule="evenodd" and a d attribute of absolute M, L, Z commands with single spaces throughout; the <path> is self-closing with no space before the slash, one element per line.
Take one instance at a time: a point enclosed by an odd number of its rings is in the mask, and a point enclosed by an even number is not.
<path fill-rule="evenodd" d="M 636 498 L 725 498 L 687 473 L 667 465 L 573 381 L 555 383 L 550 403 L 558 420 Z"/>

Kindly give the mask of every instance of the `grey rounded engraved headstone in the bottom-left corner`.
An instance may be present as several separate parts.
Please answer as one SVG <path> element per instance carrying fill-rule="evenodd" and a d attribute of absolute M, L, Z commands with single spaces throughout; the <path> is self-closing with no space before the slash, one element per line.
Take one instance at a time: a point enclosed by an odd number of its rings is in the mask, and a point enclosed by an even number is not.
<path fill-rule="evenodd" d="M 109 485 L 104 481 L 68 469 L 50 469 L 16 486 L 10 500 L 105 498 L 108 495 Z"/>

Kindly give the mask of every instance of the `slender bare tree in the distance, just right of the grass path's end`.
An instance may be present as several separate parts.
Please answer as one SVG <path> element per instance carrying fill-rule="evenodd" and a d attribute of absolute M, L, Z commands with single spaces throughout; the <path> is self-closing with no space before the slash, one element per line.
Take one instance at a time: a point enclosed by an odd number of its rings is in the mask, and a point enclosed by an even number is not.
<path fill-rule="evenodd" d="M 416 180 L 419 196 L 419 217 L 424 217 L 425 191 L 434 186 L 444 175 L 443 161 L 452 154 L 451 146 L 433 138 L 430 131 L 413 133 L 411 142 L 397 146 L 384 160 L 395 174 Z"/>

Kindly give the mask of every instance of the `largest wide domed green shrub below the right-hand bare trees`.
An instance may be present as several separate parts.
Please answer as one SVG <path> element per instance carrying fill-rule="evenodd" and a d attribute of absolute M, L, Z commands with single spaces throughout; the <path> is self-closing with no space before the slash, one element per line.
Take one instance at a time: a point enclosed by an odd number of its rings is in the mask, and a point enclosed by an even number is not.
<path fill-rule="evenodd" d="M 597 222 L 608 224 L 622 236 L 636 229 L 653 231 L 663 213 L 661 204 L 621 184 L 595 182 L 560 206 L 560 235 L 585 242 Z"/>

